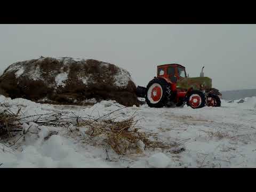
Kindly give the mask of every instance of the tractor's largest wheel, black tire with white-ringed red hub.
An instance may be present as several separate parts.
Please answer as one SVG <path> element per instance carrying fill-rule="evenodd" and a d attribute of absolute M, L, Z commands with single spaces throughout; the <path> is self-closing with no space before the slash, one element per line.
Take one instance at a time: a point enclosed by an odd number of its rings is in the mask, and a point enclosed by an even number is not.
<path fill-rule="evenodd" d="M 164 107 L 168 101 L 170 85 L 161 78 L 154 78 L 147 85 L 146 102 L 149 107 Z"/>

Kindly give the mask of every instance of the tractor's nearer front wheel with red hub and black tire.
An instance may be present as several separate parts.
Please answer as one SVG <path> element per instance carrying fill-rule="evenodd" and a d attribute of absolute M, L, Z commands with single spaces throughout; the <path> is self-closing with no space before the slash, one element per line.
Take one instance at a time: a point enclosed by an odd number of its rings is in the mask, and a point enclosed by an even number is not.
<path fill-rule="evenodd" d="M 190 97 L 192 97 L 192 98 L 190 98 Z M 199 101 L 197 100 L 198 102 L 193 103 L 194 102 L 192 100 L 193 97 L 196 97 L 197 99 L 200 99 L 200 100 Z M 192 90 L 188 93 L 186 98 L 187 98 L 187 101 L 186 101 L 187 106 L 190 106 L 193 109 L 199 109 L 199 108 L 205 107 L 205 105 L 206 105 L 206 97 L 202 91 Z"/>

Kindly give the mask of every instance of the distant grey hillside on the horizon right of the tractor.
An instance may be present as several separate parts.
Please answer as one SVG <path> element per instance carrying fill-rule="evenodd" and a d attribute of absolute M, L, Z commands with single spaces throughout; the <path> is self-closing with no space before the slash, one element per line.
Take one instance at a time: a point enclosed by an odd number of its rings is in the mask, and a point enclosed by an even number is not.
<path fill-rule="evenodd" d="M 222 99 L 236 100 L 243 99 L 246 97 L 256 97 L 256 89 L 249 90 L 232 90 L 232 91 L 221 91 Z"/>

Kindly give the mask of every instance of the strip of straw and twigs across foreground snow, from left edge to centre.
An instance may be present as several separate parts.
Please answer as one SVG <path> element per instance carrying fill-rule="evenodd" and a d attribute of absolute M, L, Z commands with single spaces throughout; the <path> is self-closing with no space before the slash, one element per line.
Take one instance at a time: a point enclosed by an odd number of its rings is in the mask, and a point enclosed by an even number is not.
<path fill-rule="evenodd" d="M 94 145 L 110 146 L 119 155 L 138 154 L 142 153 L 142 151 L 147 148 L 168 149 L 178 145 L 177 143 L 151 140 L 151 136 L 157 137 L 158 135 L 155 133 L 141 132 L 140 128 L 137 126 L 139 120 L 135 120 L 134 118 L 135 113 L 122 121 L 116 121 L 117 117 L 112 119 L 106 118 L 117 110 L 112 111 L 107 115 L 100 116 L 99 118 L 95 118 L 90 115 L 87 117 L 79 117 L 74 113 L 72 113 L 73 115 L 71 116 L 67 116 L 54 112 L 32 116 L 21 116 L 20 109 L 15 114 L 4 104 L 1 104 L 1 107 L 0 137 L 13 137 L 15 135 L 14 133 L 20 131 L 23 131 L 23 135 L 25 135 L 29 130 L 25 132 L 21 124 L 34 122 L 37 125 L 44 126 L 68 127 L 73 124 L 78 127 L 87 127 L 87 131 L 85 132 L 85 139 L 87 139 L 87 141 L 91 141 Z"/>

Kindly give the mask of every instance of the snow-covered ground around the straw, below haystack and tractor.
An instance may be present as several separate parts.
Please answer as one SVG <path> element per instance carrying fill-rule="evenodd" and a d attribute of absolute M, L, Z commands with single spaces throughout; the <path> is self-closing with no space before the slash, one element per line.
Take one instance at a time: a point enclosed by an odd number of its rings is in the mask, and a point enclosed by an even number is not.
<path fill-rule="evenodd" d="M 16 145 L 7 147 L 12 143 L 0 141 L 0 167 L 256 167 L 256 97 L 245 100 L 244 103 L 222 100 L 222 107 L 202 109 L 143 105 L 111 114 L 132 115 L 137 111 L 141 131 L 157 132 L 162 140 L 182 143 L 176 153 L 176 149 L 156 149 L 118 156 L 110 149 L 85 144 L 82 128 L 31 124 L 25 140 L 20 139 Z M 13 111 L 21 107 L 26 116 L 51 111 L 102 116 L 123 107 L 114 101 L 90 107 L 55 106 L 11 100 L 2 95 L 0 102 Z M 26 130 L 30 125 L 23 126 Z M 53 134 L 47 137 L 49 133 Z"/>

